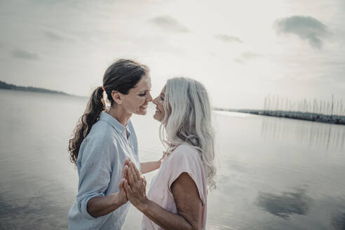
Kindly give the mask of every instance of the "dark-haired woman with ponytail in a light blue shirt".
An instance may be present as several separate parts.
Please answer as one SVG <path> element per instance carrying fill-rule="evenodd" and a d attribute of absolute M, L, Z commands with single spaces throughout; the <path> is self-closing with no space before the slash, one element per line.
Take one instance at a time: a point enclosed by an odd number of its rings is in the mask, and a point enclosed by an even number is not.
<path fill-rule="evenodd" d="M 159 161 L 140 167 L 137 137 L 130 122 L 132 114 L 147 113 L 150 90 L 148 67 L 118 60 L 91 95 L 69 140 L 69 154 L 79 175 L 76 203 L 68 214 L 69 229 L 121 229 L 129 208 L 123 189 L 125 159 L 142 172 L 159 168 Z"/>

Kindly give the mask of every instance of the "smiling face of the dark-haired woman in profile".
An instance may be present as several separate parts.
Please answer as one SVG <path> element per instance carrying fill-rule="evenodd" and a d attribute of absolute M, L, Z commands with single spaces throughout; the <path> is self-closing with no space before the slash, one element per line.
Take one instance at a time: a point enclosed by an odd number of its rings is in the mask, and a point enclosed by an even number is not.
<path fill-rule="evenodd" d="M 150 76 L 142 76 L 142 79 L 131 88 L 127 95 L 123 95 L 123 108 L 128 114 L 145 115 L 147 106 L 152 101 L 150 94 L 151 79 Z"/>

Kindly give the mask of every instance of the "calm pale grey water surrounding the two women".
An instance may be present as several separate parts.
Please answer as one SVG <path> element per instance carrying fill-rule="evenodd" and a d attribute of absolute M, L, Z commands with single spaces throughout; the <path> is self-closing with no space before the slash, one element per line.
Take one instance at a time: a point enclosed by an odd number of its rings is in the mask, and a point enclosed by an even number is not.
<path fill-rule="evenodd" d="M 85 106 L 0 90 L 0 229 L 67 229 L 78 184 L 67 144 Z M 133 116 L 141 161 L 163 150 L 153 112 Z M 207 229 L 345 229 L 345 126 L 225 112 L 214 122 Z M 140 229 L 141 217 L 131 207 L 123 229 Z"/>

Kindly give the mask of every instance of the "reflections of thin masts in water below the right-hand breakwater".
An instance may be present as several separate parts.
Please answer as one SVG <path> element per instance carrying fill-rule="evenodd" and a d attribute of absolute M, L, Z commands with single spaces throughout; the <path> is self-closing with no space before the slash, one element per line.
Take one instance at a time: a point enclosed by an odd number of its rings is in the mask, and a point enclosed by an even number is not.
<path fill-rule="evenodd" d="M 261 134 L 269 140 L 290 140 L 325 149 L 345 149 L 345 126 L 341 125 L 265 116 Z"/>

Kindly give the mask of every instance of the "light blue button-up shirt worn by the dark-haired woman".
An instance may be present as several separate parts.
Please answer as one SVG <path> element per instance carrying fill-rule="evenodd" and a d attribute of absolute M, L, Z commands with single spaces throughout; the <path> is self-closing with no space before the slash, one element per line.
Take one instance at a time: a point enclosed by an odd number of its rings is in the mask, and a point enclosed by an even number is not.
<path fill-rule="evenodd" d="M 132 123 L 128 121 L 125 127 L 111 115 L 102 112 L 100 120 L 93 125 L 79 149 L 76 161 L 78 195 L 68 213 L 69 229 L 121 229 L 129 202 L 114 212 L 97 218 L 88 213 L 86 205 L 90 198 L 108 196 L 119 191 L 118 184 L 126 158 L 130 158 L 140 170 L 137 137 Z"/>

